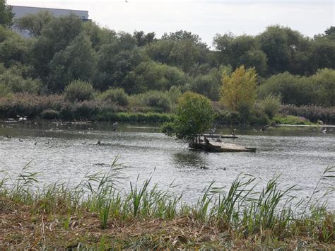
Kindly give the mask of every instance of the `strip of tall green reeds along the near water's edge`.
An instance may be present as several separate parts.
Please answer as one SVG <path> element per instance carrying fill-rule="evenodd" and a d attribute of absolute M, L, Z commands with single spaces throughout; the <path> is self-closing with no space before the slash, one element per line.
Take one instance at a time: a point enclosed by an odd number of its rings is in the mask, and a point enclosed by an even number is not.
<path fill-rule="evenodd" d="M 321 192 L 320 183 L 333 181 L 334 173 L 335 166 L 324 170 L 307 201 L 295 197 L 295 186 L 280 188 L 278 177 L 259 190 L 257 178 L 239 175 L 230 187 L 215 187 L 212 182 L 198 202 L 185 204 L 182 194 L 151 185 L 151 177 L 142 185 L 138 180 L 135 184 L 131 182 L 130 192 L 125 192 L 122 166 L 117 159 L 106 173 L 86 173 L 74 188 L 61 183 L 41 187 L 37 173 L 30 172 L 26 165 L 13 180 L 4 176 L 0 182 L 0 199 L 28 205 L 36 214 L 63 214 L 65 230 L 70 227 L 71 214 L 89 211 L 98 215 L 102 229 L 108 228 L 111 220 L 191 217 L 198 224 L 229 229 L 244 238 L 269 235 L 279 240 L 305 235 L 331 243 L 335 240 L 334 211 L 327 209 L 327 196 L 334 193 L 334 185 L 322 197 L 317 194 Z"/>

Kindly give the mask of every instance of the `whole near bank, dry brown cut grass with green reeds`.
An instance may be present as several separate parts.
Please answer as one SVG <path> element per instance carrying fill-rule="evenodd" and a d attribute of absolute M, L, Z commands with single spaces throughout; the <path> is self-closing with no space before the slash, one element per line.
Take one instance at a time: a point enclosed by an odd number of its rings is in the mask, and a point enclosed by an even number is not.
<path fill-rule="evenodd" d="M 73 189 L 38 189 L 28 166 L 12 182 L 4 177 L 0 248 L 335 248 L 334 212 L 315 198 L 319 183 L 308 201 L 297 204 L 290 194 L 295 187 L 279 189 L 273 179 L 257 192 L 257 180 L 241 175 L 228 192 L 211 184 L 190 205 L 151 187 L 150 179 L 123 192 L 120 171 L 114 162 Z M 319 182 L 334 178 L 334 171 L 327 168 Z"/>

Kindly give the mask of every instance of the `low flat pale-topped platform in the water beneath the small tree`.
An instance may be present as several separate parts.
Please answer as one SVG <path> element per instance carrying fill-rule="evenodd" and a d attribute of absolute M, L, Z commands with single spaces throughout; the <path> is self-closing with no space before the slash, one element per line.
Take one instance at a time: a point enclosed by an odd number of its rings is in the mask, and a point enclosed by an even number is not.
<path fill-rule="evenodd" d="M 255 153 L 256 148 L 238 146 L 235 144 L 211 142 L 210 144 L 189 144 L 189 149 L 192 151 L 208 151 L 208 152 L 251 152 Z"/>

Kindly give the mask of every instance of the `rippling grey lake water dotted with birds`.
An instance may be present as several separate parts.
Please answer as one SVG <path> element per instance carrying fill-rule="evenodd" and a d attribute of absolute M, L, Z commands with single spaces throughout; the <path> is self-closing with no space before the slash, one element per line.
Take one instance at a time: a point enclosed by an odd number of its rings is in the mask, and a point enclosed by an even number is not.
<path fill-rule="evenodd" d="M 216 186 L 229 186 L 240 173 L 259 177 L 260 185 L 280 175 L 283 185 L 297 184 L 301 190 L 295 195 L 299 198 L 310 196 L 324 169 L 335 163 L 335 129 L 323 134 L 320 128 L 267 132 L 259 128 L 255 132 L 255 128 L 237 129 L 239 139 L 225 141 L 256 147 L 257 153 L 202 153 L 187 150 L 182 141 L 155 128 L 124 124 L 113 132 L 110 124 L 0 123 L 0 170 L 15 177 L 32 161 L 30 170 L 40 172 L 42 183 L 61 181 L 73 186 L 87 172 L 107 170 L 119 156 L 119 163 L 124 163 L 126 189 L 129 181 L 136 182 L 139 177 L 141 182 L 153 175 L 153 183 L 163 189 L 172 182 L 177 185 L 170 191 L 184 192 L 187 202 L 195 202 L 213 180 Z M 217 129 L 219 132 L 230 134 L 232 130 Z M 102 144 L 95 145 L 99 140 Z M 209 169 L 200 169 L 201 165 Z M 322 192 L 334 186 L 333 181 L 322 180 Z M 335 198 L 329 197 L 329 206 L 335 208 Z"/>

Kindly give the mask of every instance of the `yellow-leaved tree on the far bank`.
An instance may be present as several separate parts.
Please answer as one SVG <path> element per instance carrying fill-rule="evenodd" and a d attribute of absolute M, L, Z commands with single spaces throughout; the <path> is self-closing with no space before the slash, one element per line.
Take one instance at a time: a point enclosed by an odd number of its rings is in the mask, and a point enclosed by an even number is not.
<path fill-rule="evenodd" d="M 256 101 L 257 73 L 254 68 L 237 68 L 231 76 L 223 72 L 221 103 L 233 112 L 252 109 Z"/>

